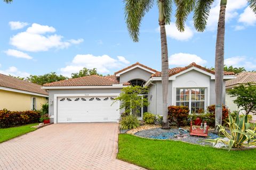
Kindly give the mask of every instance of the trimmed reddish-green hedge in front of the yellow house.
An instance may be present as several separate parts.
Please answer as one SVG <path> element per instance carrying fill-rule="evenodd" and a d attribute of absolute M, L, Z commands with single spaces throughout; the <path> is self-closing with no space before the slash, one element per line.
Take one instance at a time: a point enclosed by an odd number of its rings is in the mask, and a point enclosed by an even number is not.
<path fill-rule="evenodd" d="M 12 126 L 37 123 L 41 117 L 38 111 L 8 111 L 7 109 L 0 110 L 0 128 L 9 128 Z"/>

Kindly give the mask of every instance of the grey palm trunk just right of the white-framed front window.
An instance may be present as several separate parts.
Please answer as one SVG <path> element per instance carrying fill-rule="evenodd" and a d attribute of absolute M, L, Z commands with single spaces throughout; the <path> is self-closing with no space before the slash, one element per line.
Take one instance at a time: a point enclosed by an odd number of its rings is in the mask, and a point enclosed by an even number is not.
<path fill-rule="evenodd" d="M 217 41 L 215 49 L 215 132 L 217 125 L 222 123 L 222 92 L 223 92 L 223 67 L 224 67 L 224 41 L 225 41 L 225 14 L 227 0 L 220 2 L 220 15 L 218 22 Z"/>

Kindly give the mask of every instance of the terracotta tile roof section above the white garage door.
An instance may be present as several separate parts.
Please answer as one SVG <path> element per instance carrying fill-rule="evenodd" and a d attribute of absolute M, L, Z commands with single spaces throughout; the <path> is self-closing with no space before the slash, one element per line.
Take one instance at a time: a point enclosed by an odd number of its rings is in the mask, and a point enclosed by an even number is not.
<path fill-rule="evenodd" d="M 119 84 L 113 75 L 106 77 L 88 75 L 81 78 L 46 83 L 44 86 L 112 86 L 113 84 Z M 123 83 L 123 85 L 126 85 L 126 83 Z"/>

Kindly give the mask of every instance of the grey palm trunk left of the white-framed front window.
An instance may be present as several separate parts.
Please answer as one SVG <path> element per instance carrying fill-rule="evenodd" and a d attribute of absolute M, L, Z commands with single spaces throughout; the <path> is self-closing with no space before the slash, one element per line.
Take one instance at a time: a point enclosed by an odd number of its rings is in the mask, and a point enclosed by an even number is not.
<path fill-rule="evenodd" d="M 159 25 L 161 33 L 161 57 L 162 57 L 162 90 L 163 90 L 163 129 L 169 129 L 167 120 L 167 95 L 169 84 L 169 63 L 167 39 L 165 31 L 164 0 L 159 0 Z"/>

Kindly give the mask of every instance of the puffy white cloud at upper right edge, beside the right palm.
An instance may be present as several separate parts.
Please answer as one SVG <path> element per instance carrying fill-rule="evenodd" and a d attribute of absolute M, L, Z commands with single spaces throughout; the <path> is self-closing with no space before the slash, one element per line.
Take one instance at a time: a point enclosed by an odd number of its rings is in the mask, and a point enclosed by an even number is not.
<path fill-rule="evenodd" d="M 242 22 L 246 25 L 254 25 L 256 23 L 256 15 L 250 8 L 247 6 L 242 14 L 239 15 L 238 22 Z"/>

